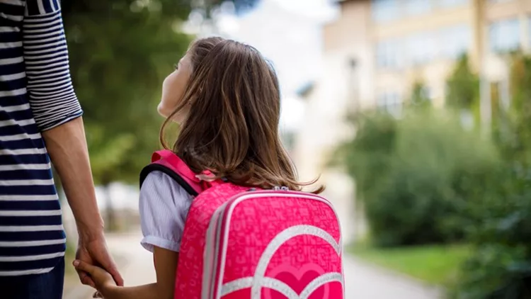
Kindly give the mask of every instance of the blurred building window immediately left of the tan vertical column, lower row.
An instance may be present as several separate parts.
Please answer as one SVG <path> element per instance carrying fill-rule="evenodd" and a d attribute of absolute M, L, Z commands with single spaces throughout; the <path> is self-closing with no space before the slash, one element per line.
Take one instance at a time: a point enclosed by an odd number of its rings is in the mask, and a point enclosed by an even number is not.
<path fill-rule="evenodd" d="M 444 58 L 457 59 L 468 52 L 470 40 L 472 40 L 472 31 L 467 25 L 442 29 L 439 45 L 440 55 Z"/>

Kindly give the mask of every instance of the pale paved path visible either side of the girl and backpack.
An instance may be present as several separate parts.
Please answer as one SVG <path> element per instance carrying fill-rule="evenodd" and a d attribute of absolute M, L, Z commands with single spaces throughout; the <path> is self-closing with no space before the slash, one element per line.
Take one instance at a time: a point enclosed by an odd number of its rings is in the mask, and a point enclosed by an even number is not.
<path fill-rule="evenodd" d="M 139 232 L 108 236 L 111 252 L 124 258 L 125 263 L 120 265 L 120 272 L 124 277 L 126 286 L 155 281 L 152 254 L 140 246 L 139 240 L 141 238 Z M 387 273 L 387 271 L 363 264 L 350 256 L 346 256 L 344 266 L 346 299 L 441 298 L 437 290 L 421 286 L 416 281 L 403 276 Z M 64 299 L 89 298 L 91 298 L 91 289 L 80 286 L 77 297 L 72 295 Z"/>

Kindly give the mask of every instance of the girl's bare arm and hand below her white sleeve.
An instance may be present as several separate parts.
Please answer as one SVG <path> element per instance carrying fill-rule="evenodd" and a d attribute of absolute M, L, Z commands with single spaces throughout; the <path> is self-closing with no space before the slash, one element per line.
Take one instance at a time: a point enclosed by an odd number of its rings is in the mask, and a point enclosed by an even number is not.
<path fill-rule="evenodd" d="M 82 261 L 74 261 L 76 269 L 89 273 L 96 288 L 105 299 L 173 299 L 178 252 L 154 247 L 156 283 L 143 286 L 116 286 L 108 272 Z"/>

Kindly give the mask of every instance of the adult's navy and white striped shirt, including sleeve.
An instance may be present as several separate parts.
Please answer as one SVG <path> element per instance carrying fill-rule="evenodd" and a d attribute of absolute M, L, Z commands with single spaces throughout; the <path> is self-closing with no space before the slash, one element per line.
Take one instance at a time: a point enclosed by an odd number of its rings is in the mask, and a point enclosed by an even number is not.
<path fill-rule="evenodd" d="M 0 0 L 0 276 L 46 273 L 64 256 L 40 132 L 81 113 L 59 0 Z"/>

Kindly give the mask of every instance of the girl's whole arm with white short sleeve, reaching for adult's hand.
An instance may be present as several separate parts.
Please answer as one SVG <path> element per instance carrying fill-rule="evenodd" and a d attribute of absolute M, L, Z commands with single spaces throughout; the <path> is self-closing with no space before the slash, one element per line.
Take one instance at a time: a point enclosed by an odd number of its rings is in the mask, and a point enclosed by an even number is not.
<path fill-rule="evenodd" d="M 176 269 L 191 196 L 161 171 L 148 174 L 140 188 L 139 212 L 142 246 L 153 252 L 156 283 L 120 287 L 103 269 L 74 263 L 90 273 L 96 288 L 107 299 L 171 299 L 175 292 Z"/>

